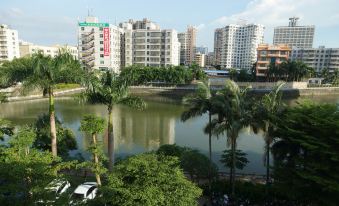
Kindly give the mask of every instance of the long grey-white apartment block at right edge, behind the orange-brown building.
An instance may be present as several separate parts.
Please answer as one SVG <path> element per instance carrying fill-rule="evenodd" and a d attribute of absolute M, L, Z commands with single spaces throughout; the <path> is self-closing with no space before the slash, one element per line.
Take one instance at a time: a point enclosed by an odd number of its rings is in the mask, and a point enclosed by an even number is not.
<path fill-rule="evenodd" d="M 339 48 L 319 48 L 300 49 L 294 47 L 292 49 L 291 59 L 302 61 L 308 66 L 321 72 L 327 68 L 330 71 L 339 69 Z"/>

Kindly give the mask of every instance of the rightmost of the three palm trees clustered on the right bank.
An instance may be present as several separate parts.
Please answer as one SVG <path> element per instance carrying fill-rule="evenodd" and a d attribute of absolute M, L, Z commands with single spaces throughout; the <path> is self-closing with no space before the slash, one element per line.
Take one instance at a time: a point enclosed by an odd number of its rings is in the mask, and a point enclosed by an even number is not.
<path fill-rule="evenodd" d="M 273 142 L 273 131 L 275 130 L 274 119 L 284 110 L 281 88 L 285 83 L 278 83 L 273 90 L 262 97 L 261 101 L 253 108 L 252 127 L 256 131 L 262 129 L 265 139 L 265 165 L 266 165 L 266 185 L 270 184 L 270 146 Z"/>

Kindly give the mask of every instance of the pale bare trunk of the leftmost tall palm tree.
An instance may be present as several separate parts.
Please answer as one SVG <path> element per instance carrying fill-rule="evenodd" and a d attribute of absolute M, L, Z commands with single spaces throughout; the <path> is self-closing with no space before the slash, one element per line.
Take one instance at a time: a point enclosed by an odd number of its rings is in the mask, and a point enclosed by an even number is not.
<path fill-rule="evenodd" d="M 56 157 L 58 155 L 58 152 L 57 152 L 57 137 L 56 137 L 56 127 L 55 127 L 54 93 L 51 87 L 48 89 L 48 97 L 49 97 L 49 121 L 50 121 L 50 128 L 51 128 L 50 133 L 51 133 L 52 155 Z"/>

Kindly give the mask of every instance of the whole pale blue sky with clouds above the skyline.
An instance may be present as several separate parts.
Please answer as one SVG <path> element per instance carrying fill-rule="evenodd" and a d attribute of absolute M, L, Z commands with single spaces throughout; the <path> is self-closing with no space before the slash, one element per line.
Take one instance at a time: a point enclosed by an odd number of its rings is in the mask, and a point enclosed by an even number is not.
<path fill-rule="evenodd" d="M 19 38 L 39 45 L 77 44 L 77 22 L 88 11 L 112 24 L 149 18 L 163 29 L 198 28 L 197 46 L 213 50 L 214 30 L 246 21 L 265 26 L 272 43 L 276 26 L 300 17 L 315 25 L 313 47 L 339 47 L 339 0 L 0 0 L 0 24 L 18 30 Z"/>

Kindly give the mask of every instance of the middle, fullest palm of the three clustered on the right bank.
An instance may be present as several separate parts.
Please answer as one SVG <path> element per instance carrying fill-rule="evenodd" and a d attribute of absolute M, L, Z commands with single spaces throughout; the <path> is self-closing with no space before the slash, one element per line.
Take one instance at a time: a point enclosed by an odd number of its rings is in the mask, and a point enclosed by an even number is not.
<path fill-rule="evenodd" d="M 209 127 L 215 135 L 227 134 L 227 147 L 231 147 L 232 164 L 230 167 L 231 194 L 234 196 L 237 138 L 242 128 L 249 124 L 250 112 L 246 98 L 246 89 L 226 80 L 225 87 L 213 98 L 213 107 L 218 114 Z"/>

